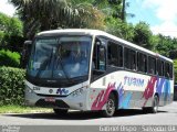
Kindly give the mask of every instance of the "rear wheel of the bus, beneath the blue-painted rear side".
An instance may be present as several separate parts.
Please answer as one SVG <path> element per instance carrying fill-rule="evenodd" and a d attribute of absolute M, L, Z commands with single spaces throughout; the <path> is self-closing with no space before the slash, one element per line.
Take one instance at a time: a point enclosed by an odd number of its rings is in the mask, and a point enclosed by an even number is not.
<path fill-rule="evenodd" d="M 159 106 L 159 99 L 158 99 L 158 96 L 155 95 L 154 99 L 153 99 L 153 105 L 152 105 L 152 108 L 150 108 L 150 112 L 152 113 L 157 113 L 158 112 L 158 106 Z"/>

